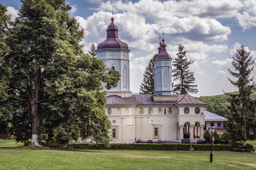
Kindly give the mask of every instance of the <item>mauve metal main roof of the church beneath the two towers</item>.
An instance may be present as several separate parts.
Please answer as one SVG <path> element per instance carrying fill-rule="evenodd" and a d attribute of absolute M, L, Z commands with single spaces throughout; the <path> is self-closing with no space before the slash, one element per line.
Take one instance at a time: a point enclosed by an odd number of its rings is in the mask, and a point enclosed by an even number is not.
<path fill-rule="evenodd" d="M 121 98 L 119 96 L 107 96 L 107 105 L 166 105 L 166 104 L 201 104 L 206 105 L 203 101 L 199 101 L 197 98 L 188 94 L 174 95 L 178 96 L 178 101 L 167 101 L 167 102 L 155 102 L 153 101 L 152 94 L 138 94 L 132 95 L 129 98 Z"/>

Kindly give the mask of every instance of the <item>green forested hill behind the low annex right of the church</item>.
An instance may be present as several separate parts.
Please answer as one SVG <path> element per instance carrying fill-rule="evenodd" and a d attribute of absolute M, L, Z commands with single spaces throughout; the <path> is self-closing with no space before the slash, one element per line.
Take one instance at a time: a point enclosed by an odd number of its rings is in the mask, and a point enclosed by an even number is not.
<path fill-rule="evenodd" d="M 215 113 L 217 115 L 225 116 L 228 114 L 228 94 L 237 94 L 238 92 L 235 91 L 233 93 L 227 94 L 220 94 L 216 96 L 201 96 L 198 97 L 199 100 L 209 103 L 207 106 L 207 111 Z M 256 99 L 256 89 L 252 91 L 252 96 L 254 100 Z"/>

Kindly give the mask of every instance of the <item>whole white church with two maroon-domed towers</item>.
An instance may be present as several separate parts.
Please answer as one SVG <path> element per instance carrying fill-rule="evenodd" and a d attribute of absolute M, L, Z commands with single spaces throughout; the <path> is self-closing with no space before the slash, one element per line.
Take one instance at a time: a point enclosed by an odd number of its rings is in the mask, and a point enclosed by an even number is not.
<path fill-rule="evenodd" d="M 117 87 L 107 91 L 105 111 L 112 123 L 112 142 L 203 139 L 208 103 L 188 94 L 172 93 L 172 59 L 166 52 L 164 39 L 154 60 L 154 94 L 133 95 L 129 89 L 130 50 L 125 42 L 119 40 L 114 18 L 111 21 L 107 39 L 97 45 L 96 52 L 107 67 L 121 74 Z"/>

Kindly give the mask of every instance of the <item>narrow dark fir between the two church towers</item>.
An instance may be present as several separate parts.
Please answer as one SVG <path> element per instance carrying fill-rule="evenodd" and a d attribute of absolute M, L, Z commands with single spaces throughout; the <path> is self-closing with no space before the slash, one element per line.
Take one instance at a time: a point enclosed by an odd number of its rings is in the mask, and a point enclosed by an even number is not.
<path fill-rule="evenodd" d="M 140 94 L 154 94 L 154 59 L 156 56 L 157 54 L 151 57 L 149 65 L 145 69 L 143 82 L 140 86 Z"/>

